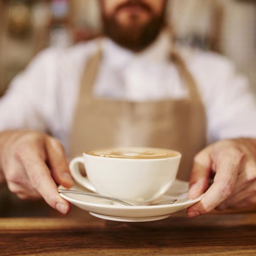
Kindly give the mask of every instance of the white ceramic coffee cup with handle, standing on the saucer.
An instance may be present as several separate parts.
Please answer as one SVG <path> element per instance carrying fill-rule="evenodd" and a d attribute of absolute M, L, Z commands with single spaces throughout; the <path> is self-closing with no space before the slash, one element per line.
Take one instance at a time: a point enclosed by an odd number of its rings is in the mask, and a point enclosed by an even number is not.
<path fill-rule="evenodd" d="M 123 148 L 122 148 L 123 149 Z M 73 178 L 85 188 L 131 204 L 146 205 L 163 195 L 177 175 L 181 154 L 160 148 L 135 148 L 140 151 L 161 150 L 177 156 L 155 159 L 100 157 L 87 152 L 70 162 Z M 134 150 L 134 148 L 125 148 Z M 79 163 L 84 164 L 87 177 L 81 175 Z"/>

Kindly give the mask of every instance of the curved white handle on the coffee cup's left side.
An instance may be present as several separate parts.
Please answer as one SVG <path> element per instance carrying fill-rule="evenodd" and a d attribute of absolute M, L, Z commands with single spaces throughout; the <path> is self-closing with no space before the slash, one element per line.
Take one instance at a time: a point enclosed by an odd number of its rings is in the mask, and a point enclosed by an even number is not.
<path fill-rule="evenodd" d="M 71 160 L 69 164 L 71 175 L 76 180 L 76 182 L 78 182 L 80 185 L 86 187 L 92 192 L 96 192 L 95 187 L 90 183 L 88 178 L 81 175 L 81 172 L 79 170 L 79 163 L 84 164 L 84 157 L 76 157 Z"/>

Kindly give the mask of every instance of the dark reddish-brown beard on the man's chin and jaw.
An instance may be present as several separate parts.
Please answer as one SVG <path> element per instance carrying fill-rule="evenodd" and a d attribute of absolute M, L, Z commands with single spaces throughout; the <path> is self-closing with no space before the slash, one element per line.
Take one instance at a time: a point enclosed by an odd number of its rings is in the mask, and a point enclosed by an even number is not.
<path fill-rule="evenodd" d="M 144 25 L 138 26 L 131 22 L 129 26 L 122 26 L 114 16 L 102 14 L 103 33 L 122 47 L 139 52 L 148 47 L 165 26 L 165 13 L 153 16 Z"/>

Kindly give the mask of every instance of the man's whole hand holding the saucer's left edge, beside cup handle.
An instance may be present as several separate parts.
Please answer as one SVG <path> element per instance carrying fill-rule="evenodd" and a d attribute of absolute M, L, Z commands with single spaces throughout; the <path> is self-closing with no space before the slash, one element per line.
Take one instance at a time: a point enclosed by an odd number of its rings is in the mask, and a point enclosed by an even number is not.
<path fill-rule="evenodd" d="M 55 181 L 70 187 L 73 179 L 55 138 L 33 131 L 0 133 L 0 167 L 9 190 L 19 198 L 43 197 L 54 209 L 69 212 L 70 204 L 58 194 Z"/>

